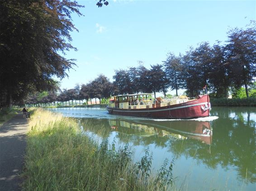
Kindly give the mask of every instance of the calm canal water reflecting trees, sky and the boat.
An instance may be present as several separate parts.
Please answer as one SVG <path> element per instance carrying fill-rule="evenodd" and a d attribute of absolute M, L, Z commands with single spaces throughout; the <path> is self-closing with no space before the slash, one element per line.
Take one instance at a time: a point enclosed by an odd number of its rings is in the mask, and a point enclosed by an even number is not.
<path fill-rule="evenodd" d="M 81 118 L 117 146 L 129 143 L 134 160 L 149 147 L 153 173 L 174 159 L 177 190 L 256 190 L 256 108 L 213 107 L 208 118 L 168 120 L 118 116 L 106 109 L 50 109 Z M 104 132 L 104 133 L 103 133 Z"/>

